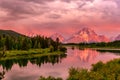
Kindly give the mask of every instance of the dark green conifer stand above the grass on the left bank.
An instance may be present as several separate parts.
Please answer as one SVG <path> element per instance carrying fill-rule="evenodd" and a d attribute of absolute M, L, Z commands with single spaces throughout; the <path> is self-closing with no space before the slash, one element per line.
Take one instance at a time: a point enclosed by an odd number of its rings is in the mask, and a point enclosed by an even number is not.
<path fill-rule="evenodd" d="M 9 36 L 0 35 L 0 50 L 29 50 L 29 49 L 44 49 L 51 48 L 52 51 L 58 50 L 60 46 L 59 39 L 53 41 L 51 38 L 44 36 Z"/>

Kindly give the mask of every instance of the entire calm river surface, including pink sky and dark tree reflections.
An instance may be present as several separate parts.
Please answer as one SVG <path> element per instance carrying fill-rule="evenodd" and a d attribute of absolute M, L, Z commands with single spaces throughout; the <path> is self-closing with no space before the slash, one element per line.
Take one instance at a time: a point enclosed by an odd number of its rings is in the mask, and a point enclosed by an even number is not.
<path fill-rule="evenodd" d="M 66 79 L 71 67 L 91 68 L 98 61 L 107 62 L 120 58 L 120 53 L 99 52 L 91 49 L 74 50 L 68 47 L 67 56 L 45 56 L 33 59 L 0 61 L 0 72 L 5 71 L 3 80 L 38 80 L 39 76 L 54 76 Z"/>

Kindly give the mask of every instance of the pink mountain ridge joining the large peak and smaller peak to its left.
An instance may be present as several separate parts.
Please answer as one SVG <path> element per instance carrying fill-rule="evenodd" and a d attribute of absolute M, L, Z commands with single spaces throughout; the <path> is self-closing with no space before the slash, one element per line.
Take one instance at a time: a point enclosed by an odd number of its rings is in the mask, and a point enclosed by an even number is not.
<path fill-rule="evenodd" d="M 54 38 L 53 38 L 54 36 Z M 55 33 L 51 36 L 53 40 L 59 38 L 62 43 L 93 43 L 93 42 L 109 42 L 110 39 L 104 35 L 98 35 L 91 28 L 84 27 L 74 33 L 68 39 L 65 39 L 61 34 Z"/>

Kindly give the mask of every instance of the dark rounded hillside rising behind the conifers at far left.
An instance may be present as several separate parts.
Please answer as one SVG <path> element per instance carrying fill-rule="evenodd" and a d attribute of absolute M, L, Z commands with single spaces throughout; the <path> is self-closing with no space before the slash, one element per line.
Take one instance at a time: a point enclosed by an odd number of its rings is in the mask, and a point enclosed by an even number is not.
<path fill-rule="evenodd" d="M 0 30 L 0 35 L 9 35 L 13 37 L 25 36 L 12 30 Z"/>

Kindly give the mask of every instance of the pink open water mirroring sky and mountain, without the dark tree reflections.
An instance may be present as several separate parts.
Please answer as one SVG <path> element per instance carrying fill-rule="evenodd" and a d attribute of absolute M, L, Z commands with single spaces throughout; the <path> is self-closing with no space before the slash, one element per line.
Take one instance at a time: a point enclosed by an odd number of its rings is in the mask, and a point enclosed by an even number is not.
<path fill-rule="evenodd" d="M 68 70 L 71 67 L 90 69 L 91 64 L 98 61 L 104 62 L 120 57 L 114 53 L 101 53 L 90 49 L 79 50 L 78 48 L 74 50 L 68 48 L 66 54 L 67 57 L 61 59 L 61 63 L 54 65 L 44 63 L 39 67 L 36 63 L 31 64 L 31 62 L 28 62 L 26 67 L 20 67 L 18 64 L 14 64 L 12 69 L 6 72 L 5 80 L 38 80 L 40 76 L 62 77 L 66 80 Z"/>

